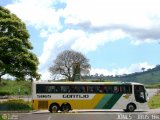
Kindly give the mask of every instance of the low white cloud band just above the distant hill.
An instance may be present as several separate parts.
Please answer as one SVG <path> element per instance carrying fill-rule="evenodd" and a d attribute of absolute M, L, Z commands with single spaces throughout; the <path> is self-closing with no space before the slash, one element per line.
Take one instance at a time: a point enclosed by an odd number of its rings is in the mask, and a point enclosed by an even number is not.
<path fill-rule="evenodd" d="M 131 74 L 135 72 L 141 72 L 142 68 L 151 69 L 154 68 L 155 65 L 149 64 L 147 62 L 143 63 L 136 63 L 136 64 L 131 64 L 129 67 L 124 67 L 124 68 L 117 68 L 117 69 L 112 69 L 112 70 L 107 70 L 107 69 L 101 69 L 101 68 L 93 68 L 91 69 L 90 74 L 95 75 L 96 73 L 103 74 L 103 75 L 123 75 L 123 74 Z"/>

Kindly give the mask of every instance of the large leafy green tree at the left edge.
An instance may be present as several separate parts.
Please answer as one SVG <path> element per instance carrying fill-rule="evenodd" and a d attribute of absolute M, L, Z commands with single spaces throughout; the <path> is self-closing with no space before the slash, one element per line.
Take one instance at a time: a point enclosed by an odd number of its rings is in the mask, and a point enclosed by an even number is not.
<path fill-rule="evenodd" d="M 39 62 L 28 39 L 25 23 L 0 6 L 0 82 L 6 74 L 18 79 L 40 77 Z"/>

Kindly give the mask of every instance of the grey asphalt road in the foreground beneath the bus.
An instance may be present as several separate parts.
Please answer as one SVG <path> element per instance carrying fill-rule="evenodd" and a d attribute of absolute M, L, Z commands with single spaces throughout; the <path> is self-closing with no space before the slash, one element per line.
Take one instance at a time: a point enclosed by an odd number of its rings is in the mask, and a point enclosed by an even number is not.
<path fill-rule="evenodd" d="M 136 111 L 73 111 L 70 113 L 1 113 L 2 120 L 160 120 L 159 110 Z M 1 120 L 1 119 L 0 119 Z"/>

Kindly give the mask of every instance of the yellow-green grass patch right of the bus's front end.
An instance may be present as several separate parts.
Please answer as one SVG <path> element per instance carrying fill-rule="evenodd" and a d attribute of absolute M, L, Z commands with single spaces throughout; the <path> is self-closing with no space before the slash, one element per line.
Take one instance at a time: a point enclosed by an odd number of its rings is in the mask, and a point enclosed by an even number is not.
<path fill-rule="evenodd" d="M 150 109 L 157 109 L 160 108 L 160 93 L 153 96 L 149 101 L 148 101 L 148 106 Z"/>

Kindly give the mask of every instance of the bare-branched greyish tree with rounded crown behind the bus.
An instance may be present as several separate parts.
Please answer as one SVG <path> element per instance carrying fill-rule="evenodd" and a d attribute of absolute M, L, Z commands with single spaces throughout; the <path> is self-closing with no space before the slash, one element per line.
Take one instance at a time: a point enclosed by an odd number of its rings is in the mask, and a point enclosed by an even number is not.
<path fill-rule="evenodd" d="M 73 64 L 80 64 L 81 74 L 88 74 L 90 64 L 88 59 L 80 52 L 65 50 L 61 52 L 54 60 L 54 64 L 49 68 L 52 75 L 60 74 L 65 76 L 69 81 L 73 81 Z"/>

